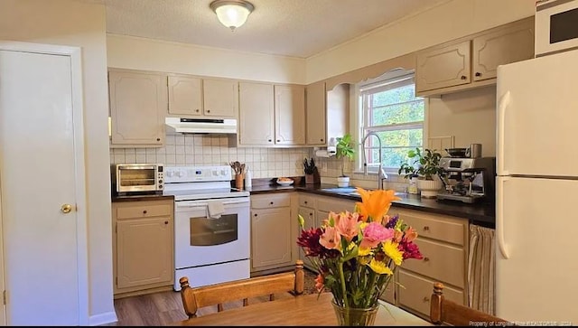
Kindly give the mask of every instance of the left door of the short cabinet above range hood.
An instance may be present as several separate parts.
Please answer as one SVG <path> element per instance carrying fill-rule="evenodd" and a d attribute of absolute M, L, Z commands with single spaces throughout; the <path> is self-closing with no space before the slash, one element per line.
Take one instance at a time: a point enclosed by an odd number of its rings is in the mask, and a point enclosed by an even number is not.
<path fill-rule="evenodd" d="M 169 114 L 200 116 L 202 114 L 202 80 L 169 76 Z"/>

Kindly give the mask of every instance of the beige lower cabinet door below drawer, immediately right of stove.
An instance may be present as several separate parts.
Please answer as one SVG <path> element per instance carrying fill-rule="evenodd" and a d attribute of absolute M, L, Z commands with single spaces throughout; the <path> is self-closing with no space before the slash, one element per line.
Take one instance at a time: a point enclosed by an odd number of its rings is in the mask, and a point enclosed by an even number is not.
<path fill-rule="evenodd" d="M 289 207 L 251 211 L 251 267 L 291 266 L 291 236 Z"/>

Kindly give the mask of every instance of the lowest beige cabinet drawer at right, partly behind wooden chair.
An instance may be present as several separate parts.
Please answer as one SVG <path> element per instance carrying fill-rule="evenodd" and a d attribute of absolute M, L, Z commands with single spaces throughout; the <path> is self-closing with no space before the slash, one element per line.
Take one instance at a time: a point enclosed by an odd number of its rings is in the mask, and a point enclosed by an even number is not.
<path fill-rule="evenodd" d="M 433 283 L 435 281 L 423 276 L 416 276 L 402 268 L 399 269 L 397 277 L 401 285 L 397 288 L 399 305 L 407 306 L 429 316 L 430 298 L 433 294 Z M 464 295 L 463 291 L 459 289 L 443 286 L 443 296 L 459 305 L 463 305 Z"/>

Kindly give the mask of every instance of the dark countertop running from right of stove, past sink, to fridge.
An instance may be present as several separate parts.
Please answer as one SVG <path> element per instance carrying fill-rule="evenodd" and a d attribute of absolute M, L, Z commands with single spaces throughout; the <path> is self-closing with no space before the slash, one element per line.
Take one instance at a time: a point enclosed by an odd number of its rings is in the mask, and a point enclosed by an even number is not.
<path fill-rule="evenodd" d="M 322 189 L 337 188 L 335 184 L 301 184 L 296 186 L 281 185 L 259 185 L 247 188 L 251 194 L 262 194 L 268 192 L 310 192 L 319 195 L 338 197 L 353 201 L 361 201 L 357 195 L 344 194 L 338 192 L 328 192 Z M 408 210 L 426 211 L 430 213 L 450 215 L 458 218 L 470 220 L 473 224 L 494 228 L 496 221 L 496 208 L 493 203 L 467 204 L 460 201 L 438 201 L 428 199 L 419 195 L 400 193 L 400 201 L 393 201 L 393 207 L 405 208 Z"/>

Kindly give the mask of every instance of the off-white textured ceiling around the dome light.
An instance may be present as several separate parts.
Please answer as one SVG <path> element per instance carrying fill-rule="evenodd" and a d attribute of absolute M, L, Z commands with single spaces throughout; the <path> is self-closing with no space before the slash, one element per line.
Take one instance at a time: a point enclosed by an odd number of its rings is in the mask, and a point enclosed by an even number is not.
<path fill-rule="evenodd" d="M 242 52 L 307 58 L 448 0 L 250 0 L 255 10 L 231 32 L 212 0 L 102 0 L 107 33 Z"/>

